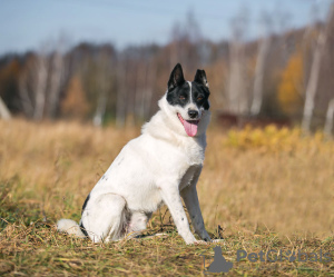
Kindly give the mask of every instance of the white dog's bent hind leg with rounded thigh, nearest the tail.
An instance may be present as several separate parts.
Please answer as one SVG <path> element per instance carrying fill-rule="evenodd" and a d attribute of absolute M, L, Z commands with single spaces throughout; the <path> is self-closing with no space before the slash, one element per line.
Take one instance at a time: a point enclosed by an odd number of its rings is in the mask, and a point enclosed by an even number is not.
<path fill-rule="evenodd" d="M 90 200 L 82 212 L 81 224 L 94 243 L 120 239 L 128 224 L 126 200 L 115 194 Z"/>

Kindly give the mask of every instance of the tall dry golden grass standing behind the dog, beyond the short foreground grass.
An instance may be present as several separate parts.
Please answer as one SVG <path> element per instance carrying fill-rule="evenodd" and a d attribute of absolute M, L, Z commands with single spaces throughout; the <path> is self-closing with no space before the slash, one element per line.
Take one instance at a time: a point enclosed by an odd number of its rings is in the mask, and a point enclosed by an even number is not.
<path fill-rule="evenodd" d="M 36 220 L 78 220 L 96 181 L 139 132 L 76 122 L 0 121 L 0 204 L 11 202 L 12 217 L 20 216 L 17 206 Z M 333 140 L 274 127 L 228 133 L 212 127 L 207 140 L 198 194 L 210 231 L 220 225 L 225 234 L 268 228 L 283 235 L 333 236 Z"/>

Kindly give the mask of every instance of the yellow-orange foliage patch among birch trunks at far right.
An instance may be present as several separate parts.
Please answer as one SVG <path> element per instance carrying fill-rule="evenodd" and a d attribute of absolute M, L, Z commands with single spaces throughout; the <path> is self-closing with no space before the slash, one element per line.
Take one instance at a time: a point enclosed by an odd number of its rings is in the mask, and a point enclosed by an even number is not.
<path fill-rule="evenodd" d="M 294 115 L 302 105 L 303 93 L 303 56 L 301 51 L 295 52 L 282 72 L 278 86 L 278 101 L 282 109 Z"/>

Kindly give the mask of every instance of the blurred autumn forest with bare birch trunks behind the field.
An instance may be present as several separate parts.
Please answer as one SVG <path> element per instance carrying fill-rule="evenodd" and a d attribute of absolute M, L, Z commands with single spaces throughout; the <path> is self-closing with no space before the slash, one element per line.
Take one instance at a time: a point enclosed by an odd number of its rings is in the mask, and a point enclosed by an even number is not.
<path fill-rule="evenodd" d="M 306 131 L 333 132 L 334 8 L 325 22 L 298 30 L 274 31 L 264 14 L 263 36 L 247 41 L 247 16 L 230 24 L 232 38 L 219 43 L 200 34 L 191 13 L 176 23 L 167 44 L 130 46 L 66 38 L 39 50 L 0 57 L 0 110 L 3 118 L 115 121 L 132 126 L 157 110 L 173 67 L 186 79 L 205 69 L 217 119 L 281 120 Z M 276 28 L 277 29 L 277 28 Z M 232 120 L 230 120 L 232 119 Z M 225 120 L 226 122 L 226 120 Z"/>

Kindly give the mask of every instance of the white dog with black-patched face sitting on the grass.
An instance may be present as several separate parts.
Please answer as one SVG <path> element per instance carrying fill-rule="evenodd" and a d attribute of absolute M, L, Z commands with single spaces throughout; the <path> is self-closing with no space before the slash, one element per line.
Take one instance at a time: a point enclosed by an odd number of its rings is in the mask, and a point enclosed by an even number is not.
<path fill-rule="evenodd" d="M 209 95 L 204 70 L 186 81 L 177 63 L 158 101 L 159 110 L 92 188 L 79 225 L 60 219 L 57 229 L 94 243 L 119 240 L 145 230 L 151 214 L 166 204 L 187 245 L 210 241 L 196 190 L 210 120 Z M 181 198 L 203 240 L 191 234 Z"/>

